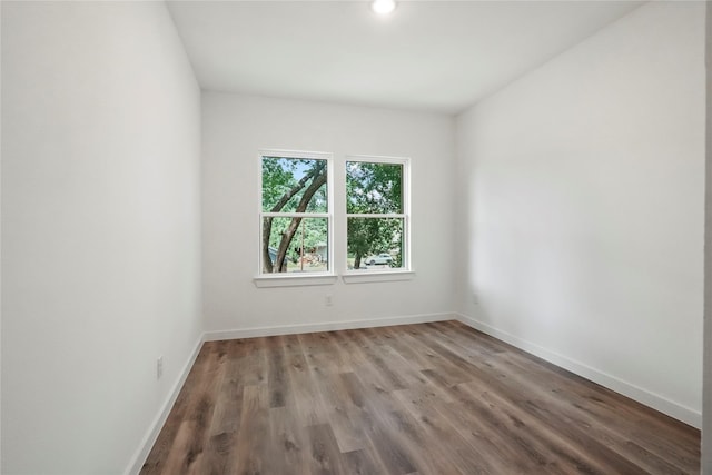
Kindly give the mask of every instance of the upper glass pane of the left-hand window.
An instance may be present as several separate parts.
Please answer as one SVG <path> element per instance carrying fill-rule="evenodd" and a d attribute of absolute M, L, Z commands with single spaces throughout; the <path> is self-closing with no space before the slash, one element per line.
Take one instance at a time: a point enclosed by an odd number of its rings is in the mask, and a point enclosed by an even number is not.
<path fill-rule="evenodd" d="M 327 212 L 327 160 L 263 157 L 263 211 Z"/>

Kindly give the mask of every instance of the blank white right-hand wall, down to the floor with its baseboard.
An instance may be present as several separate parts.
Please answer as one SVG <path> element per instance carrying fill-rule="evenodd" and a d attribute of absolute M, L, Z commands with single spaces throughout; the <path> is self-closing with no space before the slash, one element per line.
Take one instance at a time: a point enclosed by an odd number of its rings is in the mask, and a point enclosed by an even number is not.
<path fill-rule="evenodd" d="M 458 308 L 701 423 L 704 4 L 651 2 L 457 120 Z"/>

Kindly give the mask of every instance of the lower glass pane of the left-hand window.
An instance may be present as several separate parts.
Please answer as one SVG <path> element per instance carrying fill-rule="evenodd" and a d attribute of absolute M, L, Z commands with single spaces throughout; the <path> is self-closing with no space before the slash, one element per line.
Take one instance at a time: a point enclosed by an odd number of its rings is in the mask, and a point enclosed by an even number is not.
<path fill-rule="evenodd" d="M 263 273 L 328 271 L 327 218 L 263 218 Z"/>

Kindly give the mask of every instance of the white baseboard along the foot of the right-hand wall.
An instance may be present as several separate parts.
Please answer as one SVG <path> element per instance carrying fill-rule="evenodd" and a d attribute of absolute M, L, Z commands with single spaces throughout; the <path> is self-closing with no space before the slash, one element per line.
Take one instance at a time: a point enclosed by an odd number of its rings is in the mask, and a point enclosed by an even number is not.
<path fill-rule="evenodd" d="M 683 423 L 696 428 L 702 427 L 702 414 L 698 410 L 682 406 L 673 400 L 666 399 L 663 396 L 651 393 L 650 390 L 635 386 L 631 383 L 626 383 L 622 379 L 616 378 L 615 376 L 611 376 L 606 373 L 600 372 L 566 356 L 551 352 L 534 343 L 527 342 L 506 331 L 502 331 L 474 318 L 467 317 L 462 314 L 456 314 L 456 318 L 463 324 L 476 330 L 493 336 L 502 342 L 508 343 L 512 346 L 515 346 L 526 353 L 545 359 L 548 363 L 567 369 L 581 377 L 600 384 L 601 386 L 604 386 L 611 390 L 630 397 L 631 399 L 644 404 L 645 406 L 652 407 L 653 409 L 666 414 L 670 417 L 674 417 L 675 419 L 682 420 Z"/>

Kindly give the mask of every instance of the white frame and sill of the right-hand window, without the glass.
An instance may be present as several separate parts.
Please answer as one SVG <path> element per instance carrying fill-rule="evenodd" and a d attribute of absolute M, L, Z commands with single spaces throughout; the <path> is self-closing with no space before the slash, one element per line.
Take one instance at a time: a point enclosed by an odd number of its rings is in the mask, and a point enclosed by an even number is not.
<path fill-rule="evenodd" d="M 372 155 L 347 155 L 344 160 L 344 167 L 349 161 L 362 161 L 369 164 L 390 164 L 390 165 L 400 165 L 403 167 L 403 212 L 400 214 L 350 214 L 345 212 L 345 219 L 348 221 L 348 218 L 398 218 L 403 219 L 403 267 L 396 269 L 354 269 L 346 270 L 343 274 L 343 279 L 347 284 L 352 283 L 366 283 L 366 281 L 387 281 L 387 280 L 409 280 L 414 276 L 413 268 L 411 266 L 411 248 L 412 248 L 412 236 L 411 236 L 411 158 L 408 157 L 382 157 L 382 156 L 372 156 Z M 344 174 L 344 180 L 346 180 L 346 174 Z M 346 196 L 346 181 L 344 181 L 344 198 L 345 202 L 348 199 Z M 346 208 L 344 208 L 346 210 Z M 348 248 L 347 244 L 348 235 L 344 236 L 344 249 Z M 346 255 L 343 256 L 344 260 L 346 259 Z"/>

